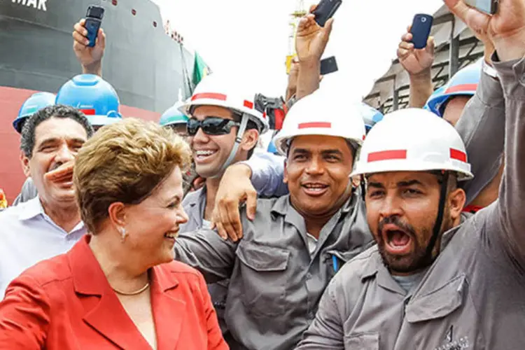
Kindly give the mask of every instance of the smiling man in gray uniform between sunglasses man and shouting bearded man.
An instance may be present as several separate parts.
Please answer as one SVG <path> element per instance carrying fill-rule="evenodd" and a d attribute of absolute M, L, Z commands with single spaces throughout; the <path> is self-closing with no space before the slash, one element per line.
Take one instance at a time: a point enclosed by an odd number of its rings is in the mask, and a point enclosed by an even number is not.
<path fill-rule="evenodd" d="M 337 113 L 336 113 L 337 111 Z M 230 279 L 225 322 L 232 349 L 292 349 L 311 322 L 328 281 L 372 236 L 349 175 L 365 135 L 359 109 L 321 90 L 292 106 L 276 147 L 286 155 L 290 195 L 258 200 L 244 238 L 181 233 L 176 259 L 208 283 Z"/>

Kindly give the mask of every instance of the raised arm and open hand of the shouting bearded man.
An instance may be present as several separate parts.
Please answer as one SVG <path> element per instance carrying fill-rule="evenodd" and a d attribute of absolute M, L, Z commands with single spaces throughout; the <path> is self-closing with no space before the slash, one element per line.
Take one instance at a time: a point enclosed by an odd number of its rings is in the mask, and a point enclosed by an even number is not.
<path fill-rule="evenodd" d="M 500 1 L 498 13 L 484 15 L 463 0 L 445 0 L 471 29 L 486 32 L 496 48 L 493 64 L 505 96 L 505 170 L 498 195 L 497 218 L 487 221 L 512 261 L 525 267 L 525 1 Z M 490 141 L 490 140 L 488 140 Z M 496 234 L 496 233 L 494 233 Z"/>

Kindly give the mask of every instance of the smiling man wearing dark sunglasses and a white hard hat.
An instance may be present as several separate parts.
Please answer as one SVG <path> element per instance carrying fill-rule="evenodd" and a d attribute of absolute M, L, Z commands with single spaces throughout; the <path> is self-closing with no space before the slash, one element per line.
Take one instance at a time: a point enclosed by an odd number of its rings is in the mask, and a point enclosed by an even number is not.
<path fill-rule="evenodd" d="M 207 76 L 180 109 L 190 117 L 187 132 L 195 172 L 206 179 L 204 187 L 188 193 L 183 200 L 188 222 L 181 225 L 181 232 L 211 228 L 211 213 L 223 172 L 236 162 L 248 160 L 259 135 L 268 130 L 265 114 L 255 109 L 255 93 L 246 93 L 243 85 L 234 85 L 230 80 L 216 73 Z M 235 342 L 223 319 L 228 280 L 209 285 L 209 292 L 223 335 L 233 347 Z"/>

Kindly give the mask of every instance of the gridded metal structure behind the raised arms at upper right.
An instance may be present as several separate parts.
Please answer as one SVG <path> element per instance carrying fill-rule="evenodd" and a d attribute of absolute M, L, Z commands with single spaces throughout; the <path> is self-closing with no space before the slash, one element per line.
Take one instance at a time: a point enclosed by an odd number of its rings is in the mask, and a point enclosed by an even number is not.
<path fill-rule="evenodd" d="M 483 56 L 483 43 L 475 38 L 472 31 L 442 6 L 433 15 L 431 35 L 435 39 L 435 60 L 432 66 L 434 88 L 441 87 L 458 69 L 475 62 Z M 382 113 L 406 108 L 409 102 L 409 77 L 394 59 L 388 71 L 377 79 L 374 87 L 363 98 L 363 102 L 379 109 Z"/>

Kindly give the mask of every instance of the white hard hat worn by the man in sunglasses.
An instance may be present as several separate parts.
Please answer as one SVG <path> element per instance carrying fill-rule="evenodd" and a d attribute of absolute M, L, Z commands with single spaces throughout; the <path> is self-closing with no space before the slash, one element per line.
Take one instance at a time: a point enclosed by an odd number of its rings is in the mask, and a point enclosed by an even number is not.
<path fill-rule="evenodd" d="M 246 92 L 246 88 L 241 83 L 235 85 L 231 78 L 223 78 L 212 73 L 195 87 L 192 97 L 181 106 L 181 112 L 190 116 L 197 106 L 224 107 L 253 120 L 260 134 L 263 134 L 269 129 L 267 117 L 265 113 L 255 109 L 254 99 L 255 93 Z"/>

